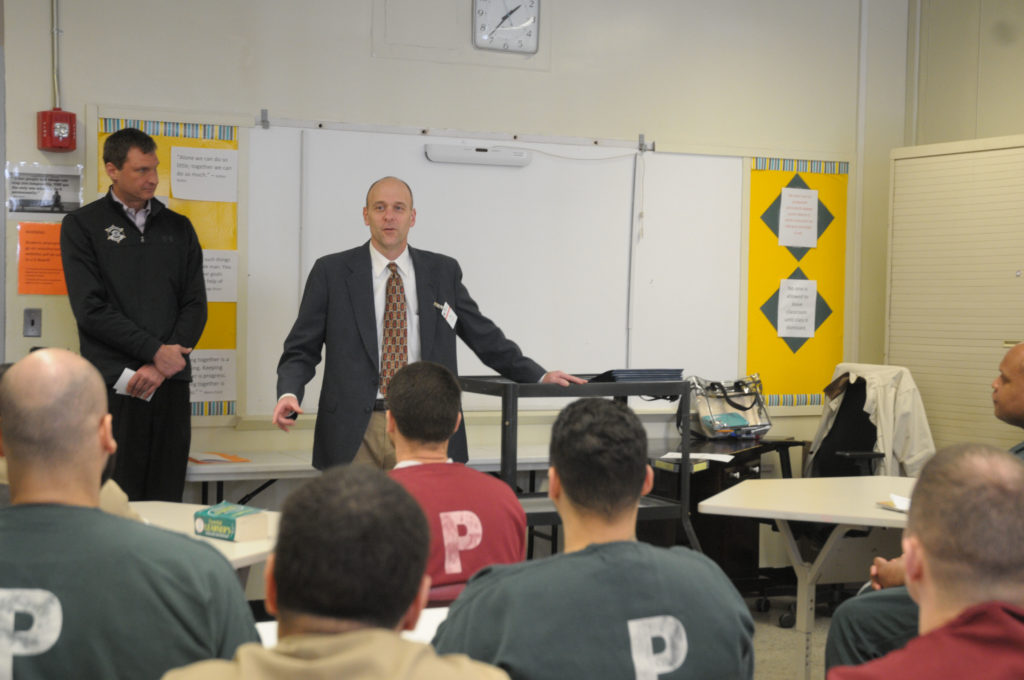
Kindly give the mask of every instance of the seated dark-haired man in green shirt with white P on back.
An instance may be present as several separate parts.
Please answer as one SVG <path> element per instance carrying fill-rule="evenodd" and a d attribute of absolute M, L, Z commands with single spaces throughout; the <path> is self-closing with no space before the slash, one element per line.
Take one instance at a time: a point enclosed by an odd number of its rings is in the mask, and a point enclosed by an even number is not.
<path fill-rule="evenodd" d="M 653 472 L 628 407 L 566 407 L 548 474 L 565 552 L 474 576 L 437 631 L 438 651 L 523 680 L 753 677 L 754 622 L 722 569 L 688 548 L 636 540 Z"/>

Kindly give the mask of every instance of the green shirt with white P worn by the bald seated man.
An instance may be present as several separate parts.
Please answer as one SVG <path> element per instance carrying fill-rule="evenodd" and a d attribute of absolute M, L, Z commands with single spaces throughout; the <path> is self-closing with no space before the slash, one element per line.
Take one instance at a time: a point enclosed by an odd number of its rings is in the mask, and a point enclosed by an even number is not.
<path fill-rule="evenodd" d="M 258 639 L 213 547 L 98 509 L 0 510 L 0 678 L 145 680 Z"/>

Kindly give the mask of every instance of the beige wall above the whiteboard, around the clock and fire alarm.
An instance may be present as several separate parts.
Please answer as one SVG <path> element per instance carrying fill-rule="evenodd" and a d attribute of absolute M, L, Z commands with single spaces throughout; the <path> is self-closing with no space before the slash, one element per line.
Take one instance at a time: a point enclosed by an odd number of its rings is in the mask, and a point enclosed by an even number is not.
<path fill-rule="evenodd" d="M 847 353 L 881 362 L 886 161 L 906 143 L 910 1 L 546 0 L 541 51 L 523 59 L 469 47 L 469 0 L 63 0 L 62 104 L 80 120 L 89 103 L 251 117 L 268 109 L 848 160 Z M 3 2 L 7 160 L 85 163 L 81 144 L 69 155 L 35 148 L 35 112 L 51 105 L 49 22 L 49 3 Z M 31 344 L 74 347 L 66 300 L 16 294 L 15 239 L 8 223 L 7 358 Z M 44 309 L 35 341 L 20 337 L 31 306 Z M 266 432 L 207 436 L 224 449 L 250 439 L 299 448 Z"/>

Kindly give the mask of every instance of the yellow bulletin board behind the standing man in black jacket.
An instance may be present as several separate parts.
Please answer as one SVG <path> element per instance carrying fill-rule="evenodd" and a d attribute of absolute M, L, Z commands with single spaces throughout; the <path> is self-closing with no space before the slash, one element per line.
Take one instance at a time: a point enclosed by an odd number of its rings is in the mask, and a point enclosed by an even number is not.
<path fill-rule="evenodd" d="M 106 137 L 126 127 L 134 127 L 157 142 L 159 186 L 158 195 L 166 192 L 167 207 L 187 217 L 204 251 L 238 251 L 239 219 L 237 202 L 191 201 L 177 199 L 171 182 L 171 148 L 225 148 L 238 151 L 238 127 L 233 125 L 150 121 L 130 118 L 100 117 L 96 144 L 96 190 L 105 193 L 110 186 L 103 169 L 102 148 Z M 238 302 L 209 302 L 203 336 L 196 343 L 199 350 L 226 350 L 233 355 L 238 348 Z M 195 364 L 195 362 L 194 362 Z M 233 375 L 233 371 L 231 372 Z M 231 386 L 234 388 L 234 385 Z M 230 416 L 236 413 L 236 399 L 193 401 L 194 416 Z"/>

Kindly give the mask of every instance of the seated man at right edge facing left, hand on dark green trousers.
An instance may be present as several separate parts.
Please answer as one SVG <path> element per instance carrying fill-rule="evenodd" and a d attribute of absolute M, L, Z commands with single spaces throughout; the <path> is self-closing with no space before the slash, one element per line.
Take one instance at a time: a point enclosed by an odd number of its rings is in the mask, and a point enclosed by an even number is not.
<path fill-rule="evenodd" d="M 1011 347 L 992 380 L 996 418 L 1024 427 L 1024 343 Z M 1010 450 L 1024 459 L 1024 441 Z M 902 556 L 876 557 L 874 590 L 851 597 L 836 609 L 825 642 L 825 669 L 855 666 L 899 649 L 918 635 L 918 605 L 904 586 Z"/>

